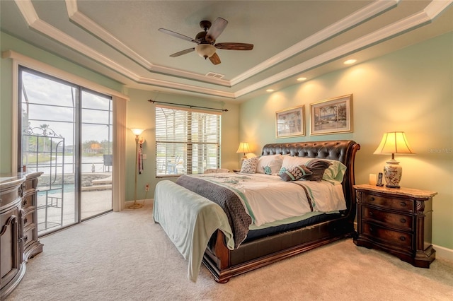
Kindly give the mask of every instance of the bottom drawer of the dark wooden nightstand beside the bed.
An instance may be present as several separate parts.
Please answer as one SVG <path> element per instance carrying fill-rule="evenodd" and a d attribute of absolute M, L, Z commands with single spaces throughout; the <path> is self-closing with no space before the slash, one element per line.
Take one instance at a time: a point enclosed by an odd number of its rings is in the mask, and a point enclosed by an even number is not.
<path fill-rule="evenodd" d="M 374 240 L 383 240 L 398 247 L 412 249 L 413 235 L 411 233 L 386 229 L 379 225 L 364 222 L 363 234 L 372 237 Z"/>

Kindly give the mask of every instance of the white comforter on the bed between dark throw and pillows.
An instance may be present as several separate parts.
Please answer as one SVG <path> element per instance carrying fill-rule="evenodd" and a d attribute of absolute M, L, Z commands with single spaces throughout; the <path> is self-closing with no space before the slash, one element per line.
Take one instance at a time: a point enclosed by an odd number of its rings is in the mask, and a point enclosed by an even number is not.
<path fill-rule="evenodd" d="M 336 212 L 346 209 L 341 184 L 321 181 L 285 182 L 276 175 L 219 173 L 194 177 L 229 187 L 243 201 L 243 206 L 260 226 L 311 212 Z M 306 187 L 310 200 L 300 184 Z"/>

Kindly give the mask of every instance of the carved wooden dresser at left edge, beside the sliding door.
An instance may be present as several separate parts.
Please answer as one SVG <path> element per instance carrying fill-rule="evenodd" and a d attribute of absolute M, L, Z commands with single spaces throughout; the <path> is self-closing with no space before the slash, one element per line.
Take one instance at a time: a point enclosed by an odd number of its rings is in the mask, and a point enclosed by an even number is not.
<path fill-rule="evenodd" d="M 37 189 L 42 172 L 0 175 L 0 299 L 25 275 L 25 264 L 42 252 L 38 241 Z"/>

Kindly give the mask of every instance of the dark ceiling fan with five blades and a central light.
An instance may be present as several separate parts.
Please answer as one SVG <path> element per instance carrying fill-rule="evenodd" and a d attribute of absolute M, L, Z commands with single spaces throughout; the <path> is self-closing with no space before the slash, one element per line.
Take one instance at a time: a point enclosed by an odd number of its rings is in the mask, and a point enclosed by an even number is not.
<path fill-rule="evenodd" d="M 174 31 L 159 28 L 161 33 L 166 33 L 168 35 L 173 35 L 173 37 L 179 37 L 180 39 L 193 42 L 197 46 L 189 49 L 182 50 L 170 55 L 170 57 L 179 57 L 180 55 L 187 54 L 189 52 L 197 52 L 200 57 L 205 59 L 209 58 L 212 64 L 220 64 L 220 58 L 216 53 L 216 49 L 226 49 L 226 50 L 251 50 L 253 49 L 253 44 L 247 43 L 236 43 L 236 42 L 224 42 L 216 43 L 217 37 L 224 31 L 228 25 L 228 21 L 224 18 L 217 18 L 214 20 L 214 23 L 211 24 L 208 20 L 202 20 L 200 22 L 200 27 L 203 29 L 202 32 L 197 33 L 195 39 L 188 37 L 187 35 L 181 35 L 180 33 L 175 33 Z"/>

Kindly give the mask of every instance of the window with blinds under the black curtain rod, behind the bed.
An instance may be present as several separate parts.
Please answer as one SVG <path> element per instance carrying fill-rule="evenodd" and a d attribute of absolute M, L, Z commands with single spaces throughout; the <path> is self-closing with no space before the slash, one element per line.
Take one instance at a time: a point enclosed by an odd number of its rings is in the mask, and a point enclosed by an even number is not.
<path fill-rule="evenodd" d="M 156 105 L 156 176 L 219 168 L 220 120 L 212 112 Z"/>

